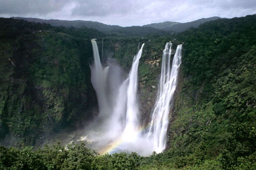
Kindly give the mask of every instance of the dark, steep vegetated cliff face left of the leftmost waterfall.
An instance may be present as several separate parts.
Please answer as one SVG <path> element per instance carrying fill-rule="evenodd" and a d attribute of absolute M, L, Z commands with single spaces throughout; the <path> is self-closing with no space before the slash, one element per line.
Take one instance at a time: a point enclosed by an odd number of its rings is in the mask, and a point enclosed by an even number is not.
<path fill-rule="evenodd" d="M 38 145 L 76 129 L 96 106 L 88 60 L 90 40 L 37 32 L 0 42 L 0 141 Z"/>

